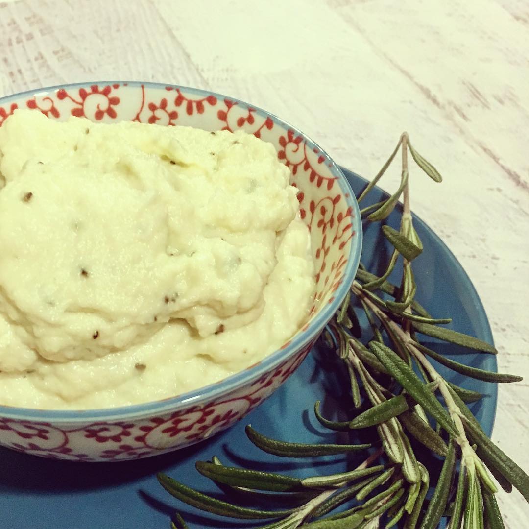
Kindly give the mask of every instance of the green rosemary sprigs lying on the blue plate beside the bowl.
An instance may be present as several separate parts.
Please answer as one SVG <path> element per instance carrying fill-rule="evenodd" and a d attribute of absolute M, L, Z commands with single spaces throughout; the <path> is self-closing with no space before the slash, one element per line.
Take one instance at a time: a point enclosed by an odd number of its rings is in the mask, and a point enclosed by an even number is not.
<path fill-rule="evenodd" d="M 364 409 L 348 421 L 329 421 L 320 413 L 318 421 L 334 431 L 372 428 L 380 438 L 378 449 L 367 444 L 303 444 L 270 439 L 246 428 L 249 440 L 261 450 L 280 457 L 321 457 L 359 450 L 375 450 L 358 467 L 327 476 L 296 478 L 269 472 L 226 467 L 213 458 L 199 461 L 197 470 L 229 489 L 252 498 L 272 501 L 277 494 L 294 498 L 296 507 L 258 509 L 227 503 L 191 489 L 163 474 L 160 484 L 188 505 L 232 518 L 271 519 L 261 529 L 375 529 L 399 523 L 406 529 L 435 528 L 448 516 L 449 529 L 503 527 L 495 499 L 496 478 L 507 492 L 516 487 L 529 501 L 529 476 L 488 439 L 466 402 L 482 395 L 445 380 L 428 358 L 464 376 L 487 382 L 515 382 L 521 377 L 466 366 L 430 349 L 417 334 L 450 342 L 482 353 L 496 354 L 494 346 L 473 336 L 441 325 L 450 318 L 434 318 L 415 300 L 412 263 L 423 252 L 413 227 L 409 202 L 408 150 L 413 160 L 435 182 L 441 175 L 402 134 L 397 147 L 377 176 L 359 195 L 361 202 L 402 151 L 402 177 L 395 193 L 361 210 L 366 222 L 384 220 L 403 197 L 400 229 L 383 225 L 382 233 L 394 251 L 382 276 L 360 266 L 340 310 L 324 333 L 327 347 L 334 349 L 350 379 L 354 408 Z M 399 256 L 403 270 L 400 285 L 388 281 Z M 378 294 L 380 293 L 380 294 Z M 393 299 L 388 299 L 390 296 Z M 368 318 L 372 339 L 359 341 L 361 330 L 355 310 Z M 436 424 L 435 429 L 430 422 Z M 425 502 L 430 486 L 425 451 L 414 451 L 416 442 L 444 458 L 435 490 Z M 457 470 L 459 467 L 459 470 Z M 270 492 L 275 492 L 271 495 Z M 335 510 L 345 505 L 345 510 Z M 334 512 L 334 514 L 333 514 Z M 172 527 L 186 527 L 177 516 Z"/>

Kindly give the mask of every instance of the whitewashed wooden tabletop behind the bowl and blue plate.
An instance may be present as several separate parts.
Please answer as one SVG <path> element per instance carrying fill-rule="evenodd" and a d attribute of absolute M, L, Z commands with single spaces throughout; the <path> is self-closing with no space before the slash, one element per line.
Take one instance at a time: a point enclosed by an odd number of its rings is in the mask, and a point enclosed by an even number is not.
<path fill-rule="evenodd" d="M 0 96 L 111 79 L 252 102 L 368 178 L 407 130 L 445 179 L 412 174 L 412 207 L 476 285 L 499 369 L 529 377 L 525 0 L 0 2 Z M 492 436 L 525 470 L 527 380 L 500 387 Z M 529 527 L 522 496 L 498 496 Z"/>

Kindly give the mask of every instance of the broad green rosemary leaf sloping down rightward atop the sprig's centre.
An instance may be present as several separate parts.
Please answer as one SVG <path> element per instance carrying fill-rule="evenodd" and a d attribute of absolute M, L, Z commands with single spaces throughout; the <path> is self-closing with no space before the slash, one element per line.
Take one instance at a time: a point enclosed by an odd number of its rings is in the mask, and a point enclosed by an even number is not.
<path fill-rule="evenodd" d="M 398 357 L 398 355 L 391 351 L 385 345 L 377 342 L 371 342 L 372 349 L 377 355 L 378 359 L 388 371 L 393 373 L 403 388 L 416 400 L 418 404 L 430 413 L 439 424 L 451 435 L 458 435 L 457 430 L 448 415 L 448 412 L 443 408 L 439 400 L 432 394 L 425 384 L 417 377 L 412 368 Z"/>

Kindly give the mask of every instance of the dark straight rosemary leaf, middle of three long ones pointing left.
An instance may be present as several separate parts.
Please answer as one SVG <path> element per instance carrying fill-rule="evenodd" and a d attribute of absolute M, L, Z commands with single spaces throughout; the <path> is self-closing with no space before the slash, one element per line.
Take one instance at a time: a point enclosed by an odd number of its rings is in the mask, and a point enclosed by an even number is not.
<path fill-rule="evenodd" d="M 224 485 L 272 492 L 298 492 L 303 490 L 301 479 L 281 474 L 238 467 L 224 467 L 209 461 L 197 461 L 195 467 L 206 478 L 218 481 Z"/>

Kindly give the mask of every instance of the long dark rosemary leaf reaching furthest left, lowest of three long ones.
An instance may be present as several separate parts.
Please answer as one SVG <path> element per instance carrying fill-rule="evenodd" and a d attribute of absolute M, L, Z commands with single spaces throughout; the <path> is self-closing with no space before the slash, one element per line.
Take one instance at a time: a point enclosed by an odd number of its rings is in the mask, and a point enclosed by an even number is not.
<path fill-rule="evenodd" d="M 179 483 L 178 481 L 166 476 L 163 473 L 157 474 L 157 479 L 160 485 L 169 492 L 171 496 L 178 498 L 187 505 L 197 507 L 205 510 L 208 513 L 218 514 L 220 516 L 227 516 L 231 518 L 241 519 L 262 519 L 262 518 L 280 518 L 288 515 L 292 510 L 258 510 L 249 509 L 246 507 L 239 507 L 226 501 L 218 500 L 203 494 L 198 490 L 192 489 Z"/>

